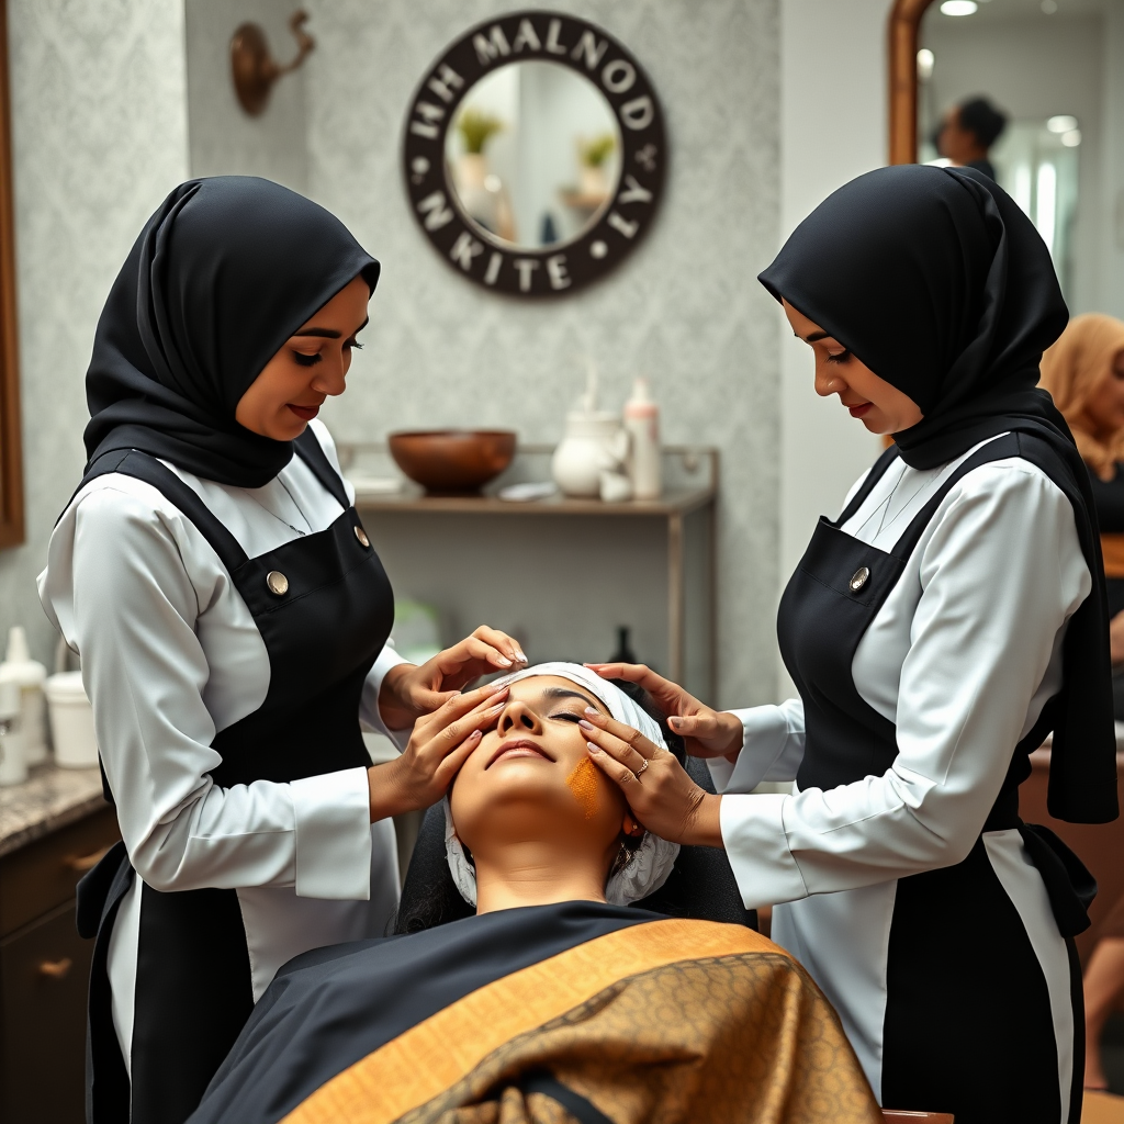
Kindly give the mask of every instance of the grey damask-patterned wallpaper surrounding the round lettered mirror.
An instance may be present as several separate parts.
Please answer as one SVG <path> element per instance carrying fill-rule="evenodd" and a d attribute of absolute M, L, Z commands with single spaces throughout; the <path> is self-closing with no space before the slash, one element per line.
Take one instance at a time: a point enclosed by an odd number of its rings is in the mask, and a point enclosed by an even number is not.
<path fill-rule="evenodd" d="M 404 426 L 501 425 L 553 442 L 596 357 L 604 404 L 651 377 L 664 438 L 722 450 L 724 705 L 771 700 L 778 533 L 778 339 L 755 274 L 779 210 L 776 0 L 552 0 L 625 43 L 663 103 L 670 179 L 646 242 L 608 279 L 525 305 L 457 278 L 406 207 L 398 153 L 415 84 L 502 0 L 309 0 L 309 192 L 383 263 L 341 438 Z M 591 574 L 590 580 L 596 580 Z"/>

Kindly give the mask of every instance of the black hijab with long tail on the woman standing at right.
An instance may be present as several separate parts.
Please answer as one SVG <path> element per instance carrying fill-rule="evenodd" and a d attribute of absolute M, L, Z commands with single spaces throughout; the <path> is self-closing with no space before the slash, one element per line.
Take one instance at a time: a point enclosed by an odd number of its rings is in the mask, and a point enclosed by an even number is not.
<path fill-rule="evenodd" d="M 997 184 L 969 169 L 881 167 L 828 196 L 760 274 L 921 408 L 895 434 L 906 464 L 932 469 L 1003 433 L 1073 506 L 1093 591 L 1070 620 L 1054 703 L 1050 812 L 1116 816 L 1104 566 L 1088 471 L 1064 418 L 1037 389 L 1042 352 L 1069 318 L 1050 253 Z"/>

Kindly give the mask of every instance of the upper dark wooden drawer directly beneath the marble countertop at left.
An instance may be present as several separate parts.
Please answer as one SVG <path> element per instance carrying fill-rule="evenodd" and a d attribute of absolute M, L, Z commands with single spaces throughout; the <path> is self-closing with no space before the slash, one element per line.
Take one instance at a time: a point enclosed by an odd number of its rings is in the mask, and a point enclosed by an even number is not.
<path fill-rule="evenodd" d="M 117 816 L 103 808 L 0 859 L 0 937 L 72 901 L 94 856 L 118 839 Z"/>

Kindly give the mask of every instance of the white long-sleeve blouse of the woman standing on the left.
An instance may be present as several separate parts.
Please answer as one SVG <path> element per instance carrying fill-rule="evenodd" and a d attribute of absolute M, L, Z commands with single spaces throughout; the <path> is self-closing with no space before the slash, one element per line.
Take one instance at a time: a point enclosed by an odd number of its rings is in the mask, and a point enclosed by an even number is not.
<path fill-rule="evenodd" d="M 337 465 L 327 430 L 312 428 Z M 254 489 L 167 466 L 251 558 L 323 531 L 342 511 L 299 456 Z M 370 897 L 364 769 L 227 789 L 208 776 L 220 760 L 211 741 L 261 706 L 270 665 L 245 601 L 190 519 L 144 481 L 98 477 L 55 527 L 38 584 L 47 616 L 82 658 L 121 835 L 144 881 Z M 398 662 L 384 649 L 363 691 L 361 718 L 383 733 L 379 688 Z"/>

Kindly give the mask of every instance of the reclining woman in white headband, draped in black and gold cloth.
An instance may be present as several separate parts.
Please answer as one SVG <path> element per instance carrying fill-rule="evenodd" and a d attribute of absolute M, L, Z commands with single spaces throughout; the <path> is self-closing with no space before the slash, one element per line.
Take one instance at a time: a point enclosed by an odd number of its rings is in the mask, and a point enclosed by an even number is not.
<path fill-rule="evenodd" d="M 505 681 L 483 734 L 422 719 L 472 746 L 445 841 L 475 914 L 290 961 L 191 1124 L 880 1121 L 795 960 L 744 925 L 628 908 L 679 847 L 592 764 L 586 709 L 673 738 L 575 664 Z"/>

